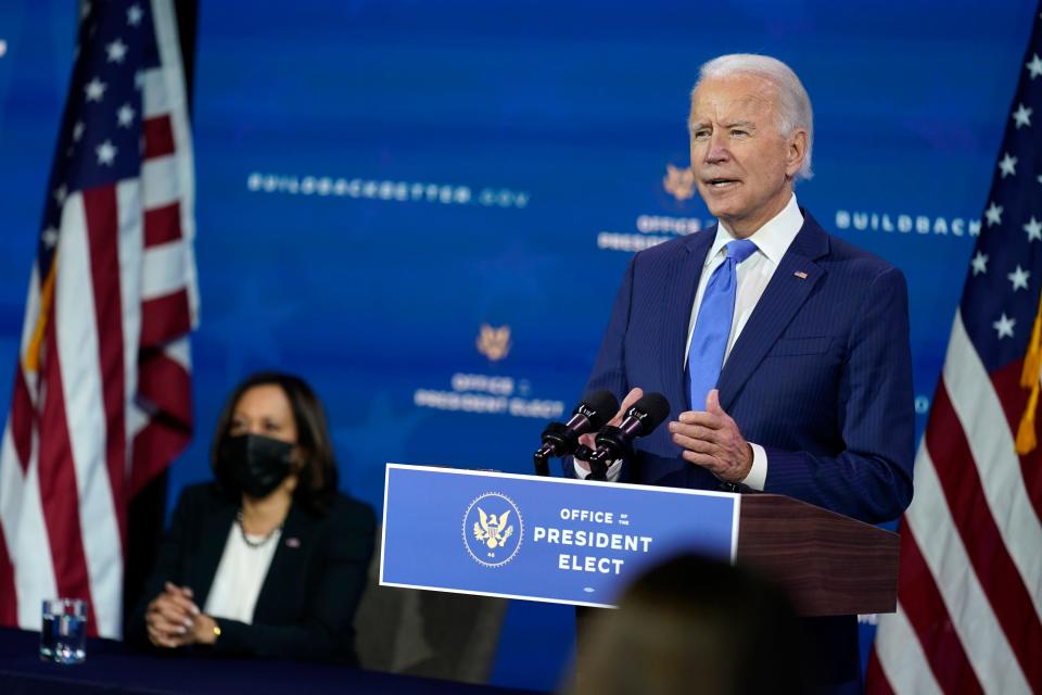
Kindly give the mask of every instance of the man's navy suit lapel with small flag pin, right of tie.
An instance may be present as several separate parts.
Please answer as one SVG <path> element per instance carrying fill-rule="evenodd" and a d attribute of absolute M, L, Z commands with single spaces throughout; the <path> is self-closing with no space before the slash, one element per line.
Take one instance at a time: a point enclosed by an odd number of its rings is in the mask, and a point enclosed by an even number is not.
<path fill-rule="evenodd" d="M 803 216 L 803 227 L 782 256 L 721 371 L 717 388 L 724 410 L 730 408 L 753 370 L 825 274 L 814 261 L 828 253 L 828 235 L 806 211 Z"/>

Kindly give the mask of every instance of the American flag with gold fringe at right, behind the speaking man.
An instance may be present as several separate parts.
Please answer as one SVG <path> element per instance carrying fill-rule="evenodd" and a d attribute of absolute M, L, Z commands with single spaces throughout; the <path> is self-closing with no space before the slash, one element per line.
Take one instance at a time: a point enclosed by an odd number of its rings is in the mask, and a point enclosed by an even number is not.
<path fill-rule="evenodd" d="M 1042 8 L 1040 8 L 1042 9 Z M 1042 33 L 999 152 L 902 519 L 869 693 L 1042 692 Z"/>

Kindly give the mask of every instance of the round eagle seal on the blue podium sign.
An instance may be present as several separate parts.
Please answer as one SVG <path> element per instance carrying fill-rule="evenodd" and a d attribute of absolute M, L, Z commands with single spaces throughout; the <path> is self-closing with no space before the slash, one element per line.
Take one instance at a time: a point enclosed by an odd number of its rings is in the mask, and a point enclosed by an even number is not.
<path fill-rule="evenodd" d="M 487 492 L 463 513 L 463 545 L 484 567 L 503 567 L 513 559 L 524 540 L 521 510 L 507 495 Z"/>

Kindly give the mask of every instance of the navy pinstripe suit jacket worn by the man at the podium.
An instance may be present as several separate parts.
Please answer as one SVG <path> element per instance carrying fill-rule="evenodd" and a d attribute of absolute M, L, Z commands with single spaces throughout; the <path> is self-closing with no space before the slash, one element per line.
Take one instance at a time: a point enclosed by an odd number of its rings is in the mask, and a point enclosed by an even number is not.
<path fill-rule="evenodd" d="M 806 211 L 803 218 L 724 364 L 721 406 L 766 451 L 765 492 L 864 521 L 894 519 L 912 500 L 915 447 L 904 276 L 829 236 Z M 671 419 L 704 408 L 688 403 L 684 353 L 715 233 L 714 226 L 634 256 L 587 392 L 608 389 L 621 401 L 635 387 L 657 391 Z M 637 441 L 623 476 L 719 488 L 681 458 L 664 426 Z"/>

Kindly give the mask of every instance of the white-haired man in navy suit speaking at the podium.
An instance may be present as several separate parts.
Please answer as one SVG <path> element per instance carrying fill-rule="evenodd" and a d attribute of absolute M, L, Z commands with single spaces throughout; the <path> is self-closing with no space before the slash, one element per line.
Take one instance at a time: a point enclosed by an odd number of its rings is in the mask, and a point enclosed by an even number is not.
<path fill-rule="evenodd" d="M 626 395 L 624 408 L 660 392 L 675 420 L 609 480 L 897 518 L 914 457 L 907 289 L 797 203 L 814 140 L 803 85 L 773 58 L 723 55 L 701 67 L 689 127 L 691 170 L 719 224 L 634 256 L 587 383 Z M 588 466 L 567 472 L 585 478 Z M 805 622 L 823 684 L 860 690 L 854 619 Z"/>

